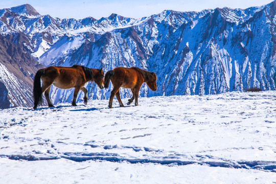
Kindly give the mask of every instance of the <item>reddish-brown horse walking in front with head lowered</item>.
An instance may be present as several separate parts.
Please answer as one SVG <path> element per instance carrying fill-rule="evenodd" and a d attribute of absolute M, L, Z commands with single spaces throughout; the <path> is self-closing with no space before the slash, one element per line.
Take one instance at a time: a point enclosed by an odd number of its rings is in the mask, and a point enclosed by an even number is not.
<path fill-rule="evenodd" d="M 112 101 L 114 96 L 119 101 L 120 107 L 124 107 L 120 97 L 120 87 L 130 88 L 133 96 L 128 100 L 127 105 L 131 104 L 135 99 L 135 106 L 138 105 L 138 96 L 141 85 L 146 82 L 151 90 L 156 90 L 156 74 L 154 72 L 148 72 L 138 67 L 116 67 L 113 70 L 108 71 L 104 76 L 104 87 L 107 88 L 109 81 L 113 85 L 109 98 L 109 108 L 112 108 Z"/>

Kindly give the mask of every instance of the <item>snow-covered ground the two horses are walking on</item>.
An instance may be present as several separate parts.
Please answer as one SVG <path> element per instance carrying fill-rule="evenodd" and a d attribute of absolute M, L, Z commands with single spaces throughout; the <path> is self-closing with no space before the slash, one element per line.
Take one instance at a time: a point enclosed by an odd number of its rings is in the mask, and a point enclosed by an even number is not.
<path fill-rule="evenodd" d="M 0 183 L 276 183 L 276 91 L 107 104 L 0 110 Z"/>

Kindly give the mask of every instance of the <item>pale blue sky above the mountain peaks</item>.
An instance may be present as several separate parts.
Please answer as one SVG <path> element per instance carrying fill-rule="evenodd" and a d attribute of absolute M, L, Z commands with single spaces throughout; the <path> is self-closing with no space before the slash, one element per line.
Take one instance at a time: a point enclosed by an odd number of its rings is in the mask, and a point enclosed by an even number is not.
<path fill-rule="evenodd" d="M 141 18 L 164 10 L 201 11 L 215 8 L 249 8 L 261 6 L 272 0 L 1 0 L 0 9 L 22 4 L 32 5 L 41 15 L 49 14 L 59 18 L 81 19 L 88 16 L 100 19 L 117 13 L 125 17 Z"/>

